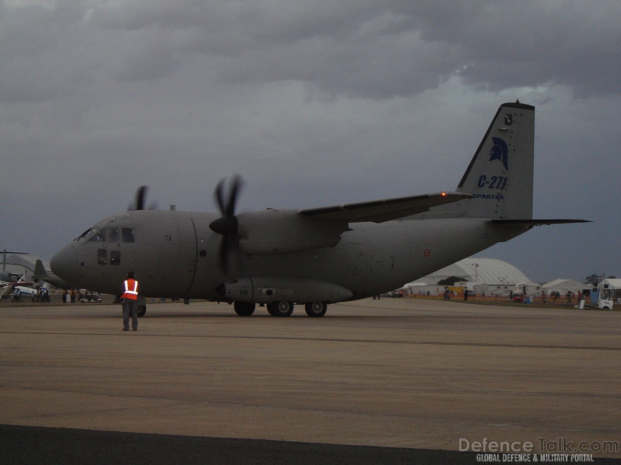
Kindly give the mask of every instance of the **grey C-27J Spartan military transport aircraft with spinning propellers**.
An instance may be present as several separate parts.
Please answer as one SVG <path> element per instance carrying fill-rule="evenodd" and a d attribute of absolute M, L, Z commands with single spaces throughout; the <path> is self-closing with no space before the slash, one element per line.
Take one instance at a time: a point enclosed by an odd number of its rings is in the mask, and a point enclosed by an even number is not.
<path fill-rule="evenodd" d="M 289 316 L 399 288 L 533 226 L 535 107 L 503 104 L 455 192 L 302 210 L 235 213 L 240 177 L 220 181 L 215 213 L 135 210 L 108 216 L 52 257 L 77 288 L 120 294 L 129 270 L 144 296 L 233 303 L 249 316 L 266 304 Z"/>

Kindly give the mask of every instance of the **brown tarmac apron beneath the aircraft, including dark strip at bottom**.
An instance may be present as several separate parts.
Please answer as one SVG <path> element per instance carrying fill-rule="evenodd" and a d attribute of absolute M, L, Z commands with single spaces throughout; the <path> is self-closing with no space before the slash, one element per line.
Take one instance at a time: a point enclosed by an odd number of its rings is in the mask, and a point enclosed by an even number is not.
<path fill-rule="evenodd" d="M 155 303 L 137 332 L 120 306 L 1 303 L 0 463 L 620 463 L 620 334 L 427 299 Z"/>

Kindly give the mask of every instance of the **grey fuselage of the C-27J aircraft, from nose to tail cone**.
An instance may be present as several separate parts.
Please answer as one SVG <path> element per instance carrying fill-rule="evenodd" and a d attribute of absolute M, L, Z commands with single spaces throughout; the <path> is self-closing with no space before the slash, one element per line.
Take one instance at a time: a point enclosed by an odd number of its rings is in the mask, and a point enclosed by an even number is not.
<path fill-rule="evenodd" d="M 501 228 L 480 218 L 352 223 L 334 247 L 276 255 L 239 252 L 235 274 L 225 275 L 218 266 L 221 236 L 209 229 L 216 218 L 215 213 L 165 210 L 110 216 L 60 250 L 52 270 L 75 287 L 108 294 L 119 294 L 132 270 L 140 294 L 152 297 L 224 300 L 216 291 L 224 282 L 286 277 L 333 283 L 351 291 L 348 299 L 360 299 L 399 288 L 528 229 Z"/>

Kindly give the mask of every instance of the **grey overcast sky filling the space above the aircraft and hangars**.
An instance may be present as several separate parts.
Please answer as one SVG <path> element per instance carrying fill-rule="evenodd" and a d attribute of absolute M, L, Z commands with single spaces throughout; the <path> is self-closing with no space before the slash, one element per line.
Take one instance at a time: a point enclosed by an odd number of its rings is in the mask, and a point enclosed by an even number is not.
<path fill-rule="evenodd" d="M 54 252 L 139 185 L 240 211 L 454 190 L 497 107 L 537 108 L 535 218 L 479 256 L 621 277 L 619 0 L 0 3 L 0 249 Z"/>

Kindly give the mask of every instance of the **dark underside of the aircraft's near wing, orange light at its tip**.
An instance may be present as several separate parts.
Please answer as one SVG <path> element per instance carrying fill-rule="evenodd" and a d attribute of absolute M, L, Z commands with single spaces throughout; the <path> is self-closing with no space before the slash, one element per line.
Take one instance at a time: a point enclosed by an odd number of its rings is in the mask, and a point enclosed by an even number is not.
<path fill-rule="evenodd" d="M 299 214 L 314 219 L 327 221 L 347 221 L 360 223 L 372 221 L 383 223 L 391 219 L 424 213 L 432 206 L 456 202 L 473 197 L 461 192 L 438 192 L 412 197 L 388 198 L 360 203 L 345 203 L 343 205 L 324 206 L 320 208 L 306 208 Z"/>

